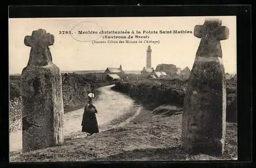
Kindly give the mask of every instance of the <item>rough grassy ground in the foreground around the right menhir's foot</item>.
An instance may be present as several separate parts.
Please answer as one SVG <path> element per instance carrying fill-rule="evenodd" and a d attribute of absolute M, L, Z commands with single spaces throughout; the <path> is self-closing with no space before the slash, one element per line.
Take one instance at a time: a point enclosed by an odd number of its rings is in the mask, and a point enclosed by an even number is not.
<path fill-rule="evenodd" d="M 176 109 L 174 109 L 176 111 Z M 131 110 L 127 115 L 131 116 Z M 189 154 L 180 146 L 182 111 L 152 114 L 142 109 L 123 127 L 115 127 L 81 138 L 66 138 L 62 146 L 29 153 L 12 153 L 11 161 L 156 161 L 237 159 L 237 124 L 227 123 L 222 156 Z M 113 121 L 120 123 L 129 116 Z M 102 139 L 104 139 L 102 141 Z"/>

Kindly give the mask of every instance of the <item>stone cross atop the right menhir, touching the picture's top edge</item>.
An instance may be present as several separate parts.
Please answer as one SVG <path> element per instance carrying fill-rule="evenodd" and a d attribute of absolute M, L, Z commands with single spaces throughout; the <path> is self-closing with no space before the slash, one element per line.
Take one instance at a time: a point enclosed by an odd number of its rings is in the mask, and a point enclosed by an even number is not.
<path fill-rule="evenodd" d="M 195 26 L 194 36 L 201 38 L 196 57 L 222 58 L 220 40 L 228 39 L 229 30 L 221 23 L 220 19 L 207 18 L 203 25 Z"/>

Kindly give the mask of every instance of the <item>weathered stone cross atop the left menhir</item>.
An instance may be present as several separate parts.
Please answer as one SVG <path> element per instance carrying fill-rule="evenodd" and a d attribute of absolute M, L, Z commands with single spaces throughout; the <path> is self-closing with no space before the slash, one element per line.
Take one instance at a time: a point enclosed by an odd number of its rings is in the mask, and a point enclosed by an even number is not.
<path fill-rule="evenodd" d="M 46 30 L 33 31 L 32 36 L 25 37 L 24 43 L 31 47 L 28 66 L 46 66 L 52 62 L 48 46 L 53 45 L 54 36 L 46 33 Z"/>

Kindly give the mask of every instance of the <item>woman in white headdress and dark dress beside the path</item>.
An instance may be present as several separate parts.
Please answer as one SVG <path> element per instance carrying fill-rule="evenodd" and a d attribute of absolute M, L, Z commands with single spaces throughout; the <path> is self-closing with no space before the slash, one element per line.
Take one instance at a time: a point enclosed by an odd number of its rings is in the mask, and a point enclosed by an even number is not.
<path fill-rule="evenodd" d="M 86 132 L 88 135 L 99 132 L 98 123 L 95 115 L 95 113 L 97 113 L 98 111 L 92 104 L 93 98 L 94 94 L 89 93 L 89 102 L 86 107 L 84 107 L 84 112 L 82 116 L 82 132 Z"/>

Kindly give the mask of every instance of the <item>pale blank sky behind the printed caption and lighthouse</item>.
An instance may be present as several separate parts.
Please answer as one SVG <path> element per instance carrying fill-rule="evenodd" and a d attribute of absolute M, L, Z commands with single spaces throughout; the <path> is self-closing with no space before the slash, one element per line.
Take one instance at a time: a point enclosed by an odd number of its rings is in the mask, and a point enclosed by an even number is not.
<path fill-rule="evenodd" d="M 212 17 L 212 16 L 211 16 Z M 49 46 L 53 63 L 61 71 L 105 70 L 107 67 L 125 71 L 142 70 L 146 65 L 146 49 L 152 48 L 152 67 L 158 64 L 175 64 L 191 70 L 200 38 L 194 36 L 195 25 L 202 25 L 207 16 L 189 17 L 95 17 L 95 18 L 11 18 L 9 19 L 9 74 L 21 73 L 28 64 L 31 47 L 24 44 L 24 37 L 32 31 L 45 29 L 54 35 L 54 44 Z M 222 25 L 229 29 L 229 38 L 221 41 L 225 72 L 237 72 L 236 16 L 218 16 Z M 77 34 L 78 31 L 129 31 L 131 36 L 148 36 L 159 43 L 108 43 L 104 36 L 127 34 Z M 158 31 L 158 34 L 136 34 L 136 31 Z M 193 31 L 192 34 L 159 34 L 159 31 Z M 59 31 L 72 31 L 59 34 Z M 131 34 L 135 31 L 135 34 Z M 95 44 L 92 41 L 105 41 Z"/>

